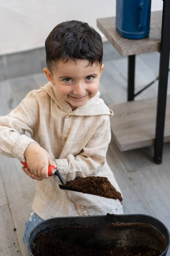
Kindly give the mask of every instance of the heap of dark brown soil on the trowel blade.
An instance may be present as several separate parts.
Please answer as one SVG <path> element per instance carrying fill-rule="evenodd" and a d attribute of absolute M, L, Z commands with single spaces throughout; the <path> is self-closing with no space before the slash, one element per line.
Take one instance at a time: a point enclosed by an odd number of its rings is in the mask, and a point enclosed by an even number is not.
<path fill-rule="evenodd" d="M 118 199 L 122 203 L 121 193 L 112 186 L 106 177 L 77 177 L 74 180 L 67 181 L 65 185 L 82 193 Z"/>

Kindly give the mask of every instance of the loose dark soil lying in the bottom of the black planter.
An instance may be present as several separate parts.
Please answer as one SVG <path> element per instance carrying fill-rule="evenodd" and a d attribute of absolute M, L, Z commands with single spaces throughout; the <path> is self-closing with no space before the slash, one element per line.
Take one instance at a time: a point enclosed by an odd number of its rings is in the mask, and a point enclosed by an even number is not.
<path fill-rule="evenodd" d="M 34 240 L 32 254 L 34 256 L 159 256 L 161 253 L 147 246 L 126 246 L 113 250 L 86 249 L 78 244 L 54 239 L 52 233 L 44 233 Z"/>

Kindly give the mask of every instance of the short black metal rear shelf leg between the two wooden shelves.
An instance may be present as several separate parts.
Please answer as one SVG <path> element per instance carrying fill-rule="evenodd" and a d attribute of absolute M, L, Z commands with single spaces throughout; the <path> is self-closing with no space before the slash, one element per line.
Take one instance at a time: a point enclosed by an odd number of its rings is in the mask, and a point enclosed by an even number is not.
<path fill-rule="evenodd" d="M 127 100 L 134 100 L 135 90 L 135 55 L 128 56 Z"/>

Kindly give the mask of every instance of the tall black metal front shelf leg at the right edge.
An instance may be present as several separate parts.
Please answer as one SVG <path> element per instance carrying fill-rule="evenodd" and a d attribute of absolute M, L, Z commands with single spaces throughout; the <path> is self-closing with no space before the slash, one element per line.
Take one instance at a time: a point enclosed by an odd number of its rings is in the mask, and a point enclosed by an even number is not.
<path fill-rule="evenodd" d="M 161 31 L 161 52 L 159 65 L 159 88 L 156 116 L 156 138 L 154 162 L 162 162 L 164 143 L 164 122 L 167 99 L 167 81 L 170 55 L 170 0 L 164 0 Z"/>

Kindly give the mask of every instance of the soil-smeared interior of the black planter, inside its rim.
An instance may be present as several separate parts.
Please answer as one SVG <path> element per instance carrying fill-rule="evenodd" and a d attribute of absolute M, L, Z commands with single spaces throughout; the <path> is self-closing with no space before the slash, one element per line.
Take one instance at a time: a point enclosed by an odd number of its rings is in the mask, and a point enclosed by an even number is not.
<path fill-rule="evenodd" d="M 160 256 L 165 248 L 164 237 L 149 224 L 105 223 L 103 226 L 61 226 L 48 230 L 34 239 L 32 254 Z"/>

